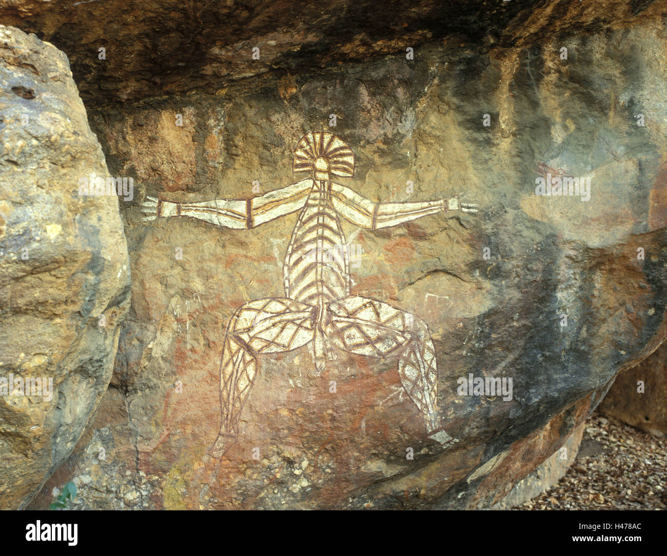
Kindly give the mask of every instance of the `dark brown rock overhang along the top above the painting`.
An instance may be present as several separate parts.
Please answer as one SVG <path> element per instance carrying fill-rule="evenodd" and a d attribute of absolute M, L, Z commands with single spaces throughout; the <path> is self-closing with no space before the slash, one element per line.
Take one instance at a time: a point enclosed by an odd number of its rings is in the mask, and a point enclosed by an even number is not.
<path fill-rule="evenodd" d="M 87 105 L 227 87 L 240 94 L 331 68 L 344 75 L 351 64 L 429 44 L 448 53 L 530 48 L 664 12 L 654 0 L 0 0 L 2 23 L 67 53 Z"/>

